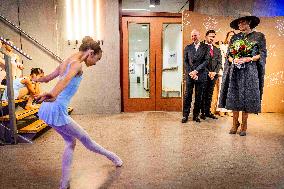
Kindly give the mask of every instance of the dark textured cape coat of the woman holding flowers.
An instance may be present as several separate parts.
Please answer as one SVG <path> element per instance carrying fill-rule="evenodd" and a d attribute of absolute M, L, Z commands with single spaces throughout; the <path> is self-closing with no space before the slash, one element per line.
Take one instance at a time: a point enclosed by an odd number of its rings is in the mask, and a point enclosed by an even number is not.
<path fill-rule="evenodd" d="M 255 62 L 245 63 L 245 68 L 237 68 L 226 60 L 222 86 L 220 91 L 219 107 L 233 111 L 245 111 L 248 113 L 261 112 L 261 99 L 264 86 L 264 74 L 266 63 L 266 40 L 264 34 L 252 32 L 247 36 L 243 33 L 232 37 L 230 44 L 235 40 L 246 38 L 256 42 L 252 56 L 260 55 Z M 230 54 L 230 44 L 228 56 Z"/>

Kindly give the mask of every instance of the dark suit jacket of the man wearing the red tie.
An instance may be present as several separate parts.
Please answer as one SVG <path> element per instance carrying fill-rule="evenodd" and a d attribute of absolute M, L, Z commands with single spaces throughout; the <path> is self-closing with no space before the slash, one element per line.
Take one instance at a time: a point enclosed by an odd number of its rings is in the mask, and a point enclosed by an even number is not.
<path fill-rule="evenodd" d="M 209 52 L 210 52 L 210 46 L 208 45 Z M 217 74 L 215 75 L 215 79 L 218 78 L 218 73 L 220 69 L 222 68 L 222 55 L 221 51 L 219 48 L 215 47 L 213 45 L 213 57 L 209 56 L 209 62 L 208 65 L 206 66 L 206 72 L 216 72 Z"/>

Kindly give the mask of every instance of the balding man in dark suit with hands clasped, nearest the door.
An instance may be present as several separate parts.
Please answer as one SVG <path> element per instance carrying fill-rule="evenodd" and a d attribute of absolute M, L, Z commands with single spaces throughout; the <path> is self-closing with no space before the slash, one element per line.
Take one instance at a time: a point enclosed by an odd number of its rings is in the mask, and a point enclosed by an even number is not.
<path fill-rule="evenodd" d="M 193 109 L 193 120 L 200 122 L 199 113 L 202 103 L 204 82 L 207 79 L 205 68 L 209 59 L 208 45 L 200 42 L 200 33 L 197 30 L 191 32 L 192 44 L 184 49 L 184 68 L 186 72 L 186 91 L 183 101 L 182 123 L 188 121 L 193 88 L 195 88 L 195 102 Z"/>

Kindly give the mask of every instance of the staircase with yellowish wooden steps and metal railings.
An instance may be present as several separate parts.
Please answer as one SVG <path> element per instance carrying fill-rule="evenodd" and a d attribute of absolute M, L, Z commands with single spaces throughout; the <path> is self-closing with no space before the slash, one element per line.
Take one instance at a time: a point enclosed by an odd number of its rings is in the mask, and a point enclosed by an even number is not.
<path fill-rule="evenodd" d="M 12 23 L 6 17 L 0 14 L 0 21 L 7 26 L 14 29 L 16 32 L 23 35 L 27 40 L 32 42 L 36 47 L 46 52 L 52 58 L 61 63 L 63 60 L 56 55 L 49 48 L 40 43 L 37 39 L 23 31 L 20 26 Z M 14 46 L 4 37 L 0 36 L 0 41 L 10 46 L 15 52 L 18 52 L 23 57 L 31 60 L 32 58 L 19 47 Z M 9 96 L 9 102 L 1 102 L 0 104 L 0 145 L 1 144 L 17 144 L 18 142 L 32 143 L 32 140 L 39 136 L 42 132 L 49 127 L 42 120 L 37 117 L 38 108 L 32 110 L 18 110 L 15 107 L 24 107 L 26 103 L 24 100 L 14 100 L 14 95 L 11 92 L 13 90 L 12 68 L 10 65 L 11 57 L 0 49 L 0 52 L 4 54 L 5 66 L 6 66 L 6 78 L 7 78 L 7 94 Z M 3 86 L 0 86 L 0 91 L 3 90 Z M 15 105 L 15 106 L 14 106 Z M 68 112 L 72 112 L 72 108 L 68 108 Z"/>

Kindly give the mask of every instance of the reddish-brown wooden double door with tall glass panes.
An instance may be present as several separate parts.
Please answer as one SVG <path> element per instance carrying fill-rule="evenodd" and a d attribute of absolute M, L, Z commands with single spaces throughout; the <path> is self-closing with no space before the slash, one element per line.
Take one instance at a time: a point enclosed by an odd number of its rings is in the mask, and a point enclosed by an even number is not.
<path fill-rule="evenodd" d="M 181 18 L 123 17 L 122 32 L 123 110 L 181 111 Z"/>

